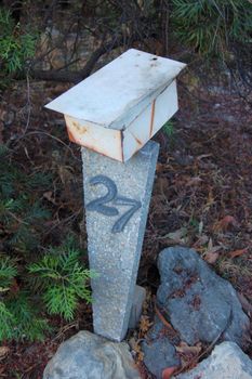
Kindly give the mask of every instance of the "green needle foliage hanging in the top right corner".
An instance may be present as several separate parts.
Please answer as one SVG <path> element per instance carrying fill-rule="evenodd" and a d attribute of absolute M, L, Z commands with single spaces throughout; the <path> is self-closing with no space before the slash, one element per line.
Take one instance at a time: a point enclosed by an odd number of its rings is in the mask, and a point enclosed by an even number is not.
<path fill-rule="evenodd" d="M 207 55 L 224 56 L 234 42 L 251 42 L 252 3 L 244 0 L 171 0 L 174 35 Z"/>

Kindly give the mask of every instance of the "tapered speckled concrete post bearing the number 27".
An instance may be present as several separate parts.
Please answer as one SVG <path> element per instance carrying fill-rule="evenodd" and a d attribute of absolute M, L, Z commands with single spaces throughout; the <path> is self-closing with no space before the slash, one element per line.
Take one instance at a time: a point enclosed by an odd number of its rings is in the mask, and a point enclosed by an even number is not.
<path fill-rule="evenodd" d="M 159 145 L 149 141 L 125 164 L 82 148 L 94 331 L 127 332 Z M 97 201 L 98 199 L 98 201 Z"/>

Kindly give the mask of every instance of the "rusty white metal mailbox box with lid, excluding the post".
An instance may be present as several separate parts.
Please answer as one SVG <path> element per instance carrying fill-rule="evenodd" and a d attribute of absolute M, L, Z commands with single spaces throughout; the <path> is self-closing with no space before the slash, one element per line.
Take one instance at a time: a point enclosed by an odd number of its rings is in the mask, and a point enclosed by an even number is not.
<path fill-rule="evenodd" d="M 130 49 L 45 107 L 64 114 L 70 141 L 124 162 L 177 110 L 184 67 Z"/>

